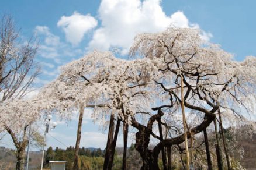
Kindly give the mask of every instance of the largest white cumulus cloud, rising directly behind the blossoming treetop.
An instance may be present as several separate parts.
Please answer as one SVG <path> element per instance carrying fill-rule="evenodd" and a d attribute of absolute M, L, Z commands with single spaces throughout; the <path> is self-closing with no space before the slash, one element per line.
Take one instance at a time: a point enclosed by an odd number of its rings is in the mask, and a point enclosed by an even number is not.
<path fill-rule="evenodd" d="M 162 9 L 161 0 L 102 0 L 99 7 L 101 27 L 94 31 L 88 50 L 108 50 L 112 47 L 122 49 L 127 54 L 134 36 L 138 33 L 157 33 L 169 26 L 199 27 L 189 23 L 182 11 L 167 16 Z M 211 34 L 203 34 L 210 38 Z"/>

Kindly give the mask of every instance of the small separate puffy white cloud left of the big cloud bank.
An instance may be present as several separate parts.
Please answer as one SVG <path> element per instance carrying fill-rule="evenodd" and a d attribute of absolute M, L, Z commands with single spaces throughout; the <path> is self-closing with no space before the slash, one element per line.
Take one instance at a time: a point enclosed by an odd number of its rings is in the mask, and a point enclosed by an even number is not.
<path fill-rule="evenodd" d="M 97 26 L 97 20 L 89 14 L 74 12 L 71 16 L 62 16 L 57 26 L 63 29 L 68 42 L 78 45 L 84 34 Z"/>

